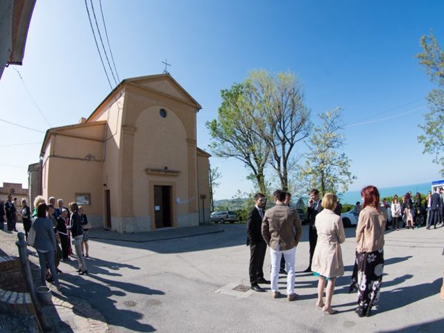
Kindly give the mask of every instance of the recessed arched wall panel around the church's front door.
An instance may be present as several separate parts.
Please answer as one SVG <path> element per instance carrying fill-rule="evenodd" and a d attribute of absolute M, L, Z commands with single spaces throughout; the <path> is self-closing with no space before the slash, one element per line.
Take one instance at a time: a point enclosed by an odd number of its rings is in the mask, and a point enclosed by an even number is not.
<path fill-rule="evenodd" d="M 167 117 L 160 117 L 164 108 Z M 176 226 L 187 224 L 188 202 L 196 198 L 188 197 L 188 160 L 185 128 L 173 110 L 152 106 L 144 110 L 135 123 L 133 154 L 133 207 L 134 215 L 148 230 L 151 226 L 151 205 L 153 204 L 153 184 L 173 182 L 176 188 L 173 205 L 176 206 Z M 178 176 L 147 174 L 146 169 L 180 171 Z M 173 194 L 171 194 L 173 195 Z M 173 207 L 171 207 L 173 208 Z M 140 219 L 142 218 L 142 219 Z M 174 223 L 173 223 L 174 225 Z"/>

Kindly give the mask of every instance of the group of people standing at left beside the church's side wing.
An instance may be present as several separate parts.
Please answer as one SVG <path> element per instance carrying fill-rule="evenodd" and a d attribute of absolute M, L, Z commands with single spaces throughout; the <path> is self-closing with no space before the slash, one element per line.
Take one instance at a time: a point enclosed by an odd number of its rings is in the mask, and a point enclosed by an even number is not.
<path fill-rule="evenodd" d="M 26 241 L 37 250 L 42 284 L 53 282 L 60 289 L 58 269 L 60 260 L 69 261 L 74 246 L 78 261 L 77 272 L 87 275 L 85 257 L 89 257 L 88 230 L 91 228 L 83 208 L 77 203 L 64 207 L 62 199 L 50 197 L 48 203 L 43 196 L 34 200 L 34 211 L 23 200 L 22 219 Z M 69 214 L 71 212 L 71 214 Z M 61 246 L 61 248 L 60 248 Z"/>

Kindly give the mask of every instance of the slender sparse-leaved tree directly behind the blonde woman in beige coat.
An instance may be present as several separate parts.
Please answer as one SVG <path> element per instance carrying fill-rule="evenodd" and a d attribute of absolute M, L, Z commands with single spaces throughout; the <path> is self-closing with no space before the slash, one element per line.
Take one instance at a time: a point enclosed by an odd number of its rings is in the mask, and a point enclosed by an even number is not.
<path fill-rule="evenodd" d="M 300 171 L 301 178 L 308 178 L 312 188 L 316 187 L 321 195 L 337 193 L 339 186 L 345 192 L 356 176 L 350 172 L 350 159 L 341 153 L 344 135 L 341 134 L 341 108 L 319 114 L 321 125 L 314 128 L 309 139 L 309 152 L 305 157 L 305 168 Z"/>

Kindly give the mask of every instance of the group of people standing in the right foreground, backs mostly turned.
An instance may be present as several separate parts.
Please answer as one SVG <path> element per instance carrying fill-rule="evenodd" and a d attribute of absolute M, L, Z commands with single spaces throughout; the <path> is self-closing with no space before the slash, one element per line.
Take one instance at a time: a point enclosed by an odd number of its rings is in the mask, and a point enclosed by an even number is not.
<path fill-rule="evenodd" d="M 247 245 L 250 246 L 249 275 L 251 289 L 265 291 L 259 284 L 270 284 L 273 298 L 279 298 L 278 278 L 281 257 L 287 273 L 287 298 L 296 300 L 294 291 L 296 247 L 302 235 L 298 213 L 289 207 L 286 191 L 274 194 L 275 206 L 264 212 L 265 196 L 255 195 L 255 207 L 247 219 Z M 374 186 L 361 190 L 363 207 L 356 230 L 356 259 L 350 281 L 350 291 L 358 292 L 358 316 L 370 316 L 370 310 L 379 296 L 384 271 L 384 230 L 386 216 L 379 206 L 379 191 Z M 327 193 L 321 199 L 312 189 L 307 207 L 309 221 L 309 266 L 305 272 L 318 277 L 316 307 L 325 314 L 334 314 L 332 297 L 336 278 L 344 274 L 341 244 L 345 232 L 338 209 L 338 198 Z M 271 254 L 271 281 L 264 278 L 263 264 L 266 246 Z M 325 293 L 325 302 L 324 302 Z"/>

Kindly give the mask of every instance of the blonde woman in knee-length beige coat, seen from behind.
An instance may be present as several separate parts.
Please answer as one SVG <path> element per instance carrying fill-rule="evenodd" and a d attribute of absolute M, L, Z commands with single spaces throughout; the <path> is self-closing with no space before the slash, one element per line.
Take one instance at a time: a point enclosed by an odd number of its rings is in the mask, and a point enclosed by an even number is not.
<path fill-rule="evenodd" d="M 336 278 L 344 274 L 344 264 L 342 262 L 341 246 L 345 241 L 345 232 L 341 216 L 334 214 L 338 198 L 327 193 L 322 199 L 321 205 L 324 208 L 316 215 L 314 225 L 318 232 L 318 241 L 314 250 L 311 270 L 318 280 L 318 302 L 316 307 L 323 309 L 324 314 L 334 314 L 332 309 L 332 298 L 334 292 L 334 282 Z M 327 283 L 326 300 L 323 301 L 325 280 Z"/>

